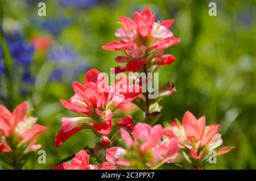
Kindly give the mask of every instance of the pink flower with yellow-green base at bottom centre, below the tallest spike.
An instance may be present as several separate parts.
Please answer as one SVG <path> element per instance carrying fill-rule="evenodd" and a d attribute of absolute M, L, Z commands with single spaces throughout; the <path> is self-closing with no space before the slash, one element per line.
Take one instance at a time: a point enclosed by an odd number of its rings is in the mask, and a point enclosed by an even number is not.
<path fill-rule="evenodd" d="M 150 127 L 138 123 L 134 127 L 133 139 L 121 128 L 125 147 L 115 146 L 106 150 L 106 160 L 124 169 L 157 169 L 170 162 L 179 150 L 176 138 L 162 137 L 162 126 Z"/>

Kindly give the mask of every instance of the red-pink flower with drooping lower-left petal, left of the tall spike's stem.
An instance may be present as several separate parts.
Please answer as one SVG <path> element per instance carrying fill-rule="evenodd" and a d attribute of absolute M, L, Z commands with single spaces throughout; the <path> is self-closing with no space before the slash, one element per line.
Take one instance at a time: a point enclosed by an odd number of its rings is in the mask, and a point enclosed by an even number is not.
<path fill-rule="evenodd" d="M 96 69 L 90 69 L 84 78 L 84 85 L 73 82 L 76 94 L 69 100 L 60 100 L 65 108 L 88 117 L 63 117 L 61 131 L 55 139 L 55 146 L 84 128 L 93 128 L 100 134 L 109 134 L 114 127 L 127 127 L 132 131 L 133 118 L 112 119 L 113 112 L 119 107 L 136 99 L 141 94 L 141 87 L 131 85 L 116 90 L 106 85 L 106 77 Z M 113 124 L 113 125 L 112 125 Z"/>

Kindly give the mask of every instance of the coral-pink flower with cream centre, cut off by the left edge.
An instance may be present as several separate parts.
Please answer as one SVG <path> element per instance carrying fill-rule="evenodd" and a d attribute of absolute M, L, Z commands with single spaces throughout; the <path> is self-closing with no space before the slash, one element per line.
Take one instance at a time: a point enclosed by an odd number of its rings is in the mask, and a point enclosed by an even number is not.
<path fill-rule="evenodd" d="M 12 137 L 12 146 L 28 143 L 27 151 L 35 151 L 40 148 L 35 139 L 47 128 L 35 124 L 36 117 L 26 116 L 26 113 L 27 102 L 19 104 L 12 113 L 5 106 L 0 105 L 0 152 L 12 150 L 7 141 L 9 137 Z"/>

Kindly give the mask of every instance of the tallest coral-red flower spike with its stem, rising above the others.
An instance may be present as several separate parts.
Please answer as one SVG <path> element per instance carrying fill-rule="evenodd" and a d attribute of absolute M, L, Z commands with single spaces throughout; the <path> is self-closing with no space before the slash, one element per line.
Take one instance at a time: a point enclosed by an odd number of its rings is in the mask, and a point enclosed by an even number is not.
<path fill-rule="evenodd" d="M 164 54 L 164 50 L 180 43 L 180 39 L 173 37 L 173 33 L 169 30 L 174 19 L 155 22 L 155 14 L 146 8 L 142 12 L 136 11 L 134 19 L 120 16 L 119 23 L 121 27 L 115 32 L 115 36 L 120 37 L 121 40 L 112 41 L 102 48 L 124 52 L 125 56 L 118 56 L 115 61 L 126 65 L 116 67 L 115 73 L 130 71 L 146 75 L 144 82 L 146 90 L 142 96 L 134 100 L 134 103 L 144 111 L 144 122 L 153 125 L 161 115 L 161 106 L 158 104 L 160 96 L 149 98 L 148 85 L 154 77 L 148 77 L 148 73 L 155 73 L 159 66 L 172 64 L 176 60 L 171 54 Z M 167 83 L 160 91 L 161 96 L 171 95 L 176 91 L 174 83 Z"/>

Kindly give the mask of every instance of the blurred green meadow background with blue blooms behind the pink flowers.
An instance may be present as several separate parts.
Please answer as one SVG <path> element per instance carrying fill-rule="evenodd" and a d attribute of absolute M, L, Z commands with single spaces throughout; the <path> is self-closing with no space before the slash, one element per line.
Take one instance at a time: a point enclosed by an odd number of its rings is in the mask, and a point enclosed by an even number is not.
<path fill-rule="evenodd" d="M 101 46 L 116 39 L 118 16 L 133 17 L 146 6 L 160 21 L 175 18 L 171 30 L 181 37 L 180 44 L 167 50 L 177 61 L 159 69 L 160 83 L 173 79 L 177 92 L 160 102 L 163 115 L 158 123 L 181 120 L 186 110 L 197 117 L 205 115 L 208 124 L 222 125 L 223 145 L 236 146 L 207 169 L 256 169 L 255 1 L 0 2 L 5 33 L 5 45 L 0 47 L 0 103 L 13 110 L 27 100 L 39 123 L 49 127 L 39 140 L 46 164 L 39 164 L 35 153 L 26 169 L 50 169 L 84 146 L 93 146 L 96 137 L 84 130 L 55 148 L 61 117 L 75 116 L 59 99 L 73 95 L 72 82 L 82 82 L 90 68 L 110 74 L 120 52 Z M 39 2 L 46 3 L 46 16 L 38 16 Z M 208 15 L 209 2 L 217 3 L 217 16 Z M 6 49 L 11 56 L 4 61 Z M 142 119 L 139 111 L 133 115 Z M 0 162 L 0 168 L 6 166 Z"/>

